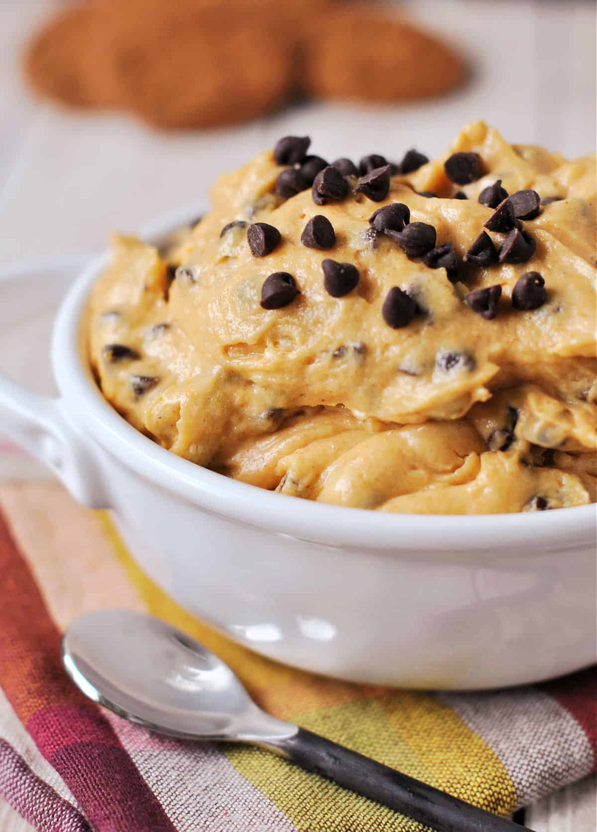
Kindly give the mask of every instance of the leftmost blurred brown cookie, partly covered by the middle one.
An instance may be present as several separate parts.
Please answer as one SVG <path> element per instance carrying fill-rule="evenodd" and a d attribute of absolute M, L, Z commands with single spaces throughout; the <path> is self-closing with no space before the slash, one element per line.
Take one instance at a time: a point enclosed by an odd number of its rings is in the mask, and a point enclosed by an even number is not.
<path fill-rule="evenodd" d="M 110 22 L 99 3 L 69 8 L 33 38 L 24 69 L 35 91 L 68 106 L 121 106 L 113 66 L 106 60 Z"/>

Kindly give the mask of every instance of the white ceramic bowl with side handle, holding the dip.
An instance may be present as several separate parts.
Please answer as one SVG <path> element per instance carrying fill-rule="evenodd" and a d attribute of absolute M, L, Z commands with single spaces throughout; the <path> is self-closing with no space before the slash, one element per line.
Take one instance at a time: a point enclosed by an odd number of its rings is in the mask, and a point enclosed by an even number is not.
<path fill-rule="evenodd" d="M 381 514 L 270 493 L 176 457 L 126 423 L 91 377 L 81 318 L 106 257 L 57 317 L 61 397 L 0 378 L 0 428 L 81 503 L 111 508 L 141 567 L 183 607 L 279 661 L 383 685 L 515 685 L 595 661 L 595 506 Z"/>

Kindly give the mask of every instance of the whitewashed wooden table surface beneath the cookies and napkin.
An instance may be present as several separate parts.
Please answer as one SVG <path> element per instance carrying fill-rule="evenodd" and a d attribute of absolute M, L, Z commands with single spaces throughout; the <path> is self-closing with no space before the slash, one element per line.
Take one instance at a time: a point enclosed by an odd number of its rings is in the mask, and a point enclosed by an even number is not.
<path fill-rule="evenodd" d="M 403 2 L 470 54 L 477 69 L 466 90 L 394 108 L 309 104 L 231 130 L 173 136 L 30 97 L 17 68 L 22 43 L 64 2 L 0 0 L 0 264 L 93 252 L 113 230 L 136 231 L 168 210 L 200 204 L 220 171 L 288 133 L 311 135 L 322 156 L 399 158 L 411 146 L 441 152 L 462 124 L 481 117 L 511 141 L 565 156 L 595 149 L 592 2 Z M 525 823 L 537 832 L 595 832 L 595 780 L 531 807 Z M 30 829 L 0 801 L 0 832 Z"/>

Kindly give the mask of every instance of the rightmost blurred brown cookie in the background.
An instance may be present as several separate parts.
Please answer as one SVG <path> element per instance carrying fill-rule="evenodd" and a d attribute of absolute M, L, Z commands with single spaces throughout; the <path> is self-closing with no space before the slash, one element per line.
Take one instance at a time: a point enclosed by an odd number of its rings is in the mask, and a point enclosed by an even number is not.
<path fill-rule="evenodd" d="M 305 62 L 308 92 L 350 101 L 437 96 L 466 76 L 461 57 L 435 37 L 360 6 L 318 18 L 305 43 Z"/>

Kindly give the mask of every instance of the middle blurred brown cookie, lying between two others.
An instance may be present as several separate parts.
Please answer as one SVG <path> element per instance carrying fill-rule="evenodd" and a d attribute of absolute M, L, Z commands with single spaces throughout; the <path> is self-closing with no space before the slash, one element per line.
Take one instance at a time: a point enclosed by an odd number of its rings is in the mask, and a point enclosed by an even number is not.
<path fill-rule="evenodd" d="M 267 21 L 221 7 L 123 39 L 115 61 L 127 106 L 169 129 L 261 116 L 289 97 L 294 77 L 293 50 Z"/>

